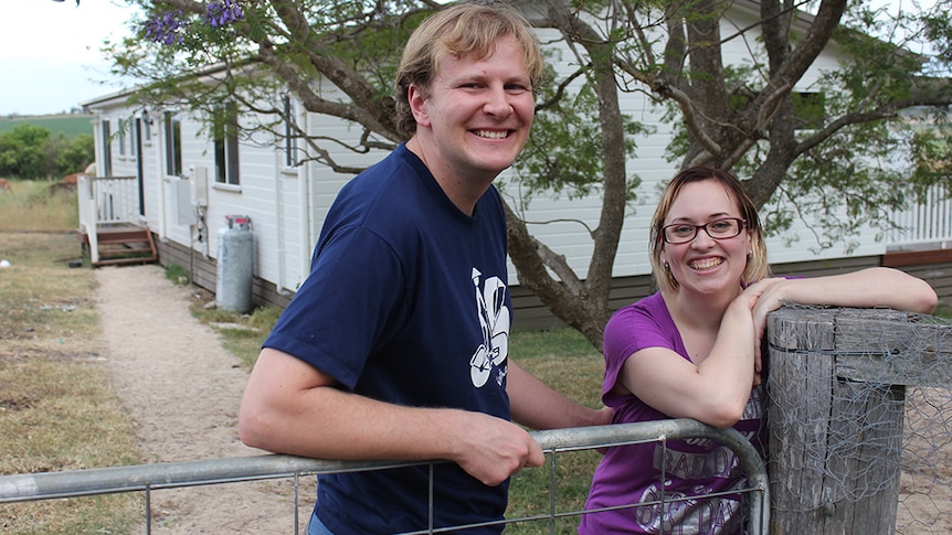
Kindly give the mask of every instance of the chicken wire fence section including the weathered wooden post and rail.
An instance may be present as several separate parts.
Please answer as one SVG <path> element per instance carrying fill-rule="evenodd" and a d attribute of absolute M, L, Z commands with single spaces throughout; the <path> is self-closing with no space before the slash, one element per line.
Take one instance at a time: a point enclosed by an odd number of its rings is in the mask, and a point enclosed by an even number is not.
<path fill-rule="evenodd" d="M 952 533 L 952 324 L 798 304 L 769 322 L 772 521 Z"/>

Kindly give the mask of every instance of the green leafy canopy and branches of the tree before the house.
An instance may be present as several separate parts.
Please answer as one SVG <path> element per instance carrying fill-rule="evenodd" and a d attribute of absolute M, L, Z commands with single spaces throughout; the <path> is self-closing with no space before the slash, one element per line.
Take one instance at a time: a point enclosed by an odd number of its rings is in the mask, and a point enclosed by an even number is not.
<path fill-rule="evenodd" d="M 362 128 L 356 151 L 402 140 L 392 114 L 396 60 L 413 28 L 441 8 L 426 0 L 134 3 L 142 7 L 144 18 L 131 21 L 139 33 L 114 43 L 110 54 L 116 74 L 146 83 L 136 93 L 140 103 L 186 100 L 213 113 L 228 95 L 277 125 L 283 109 L 275 95 L 290 92 L 308 111 Z M 510 257 L 520 282 L 596 346 L 638 183 L 630 162 L 652 129 L 625 115 L 623 95 L 644 95 L 666 113 L 676 132 L 667 151 L 679 165 L 747 176 L 757 204 L 770 208 L 769 228 L 782 232 L 797 212 L 818 214 L 821 245 L 848 244 L 868 225 L 887 228 L 884 211 L 948 180 L 952 88 L 939 75 L 948 75 L 952 57 L 950 0 L 898 14 L 856 0 L 507 3 L 540 29 L 547 49 L 568 56 L 538 88 L 520 186 L 602 199 L 597 225 L 589 227 L 593 253 L 584 279 L 531 236 L 518 205 L 508 206 Z M 751 22 L 739 25 L 745 19 L 729 18 L 734 10 L 745 10 Z M 933 53 L 911 47 L 913 41 L 928 42 Z M 726 64 L 723 50 L 738 43 L 748 61 Z M 795 90 L 831 47 L 850 61 Z M 319 78 L 347 100 L 326 98 L 314 83 Z M 930 128 L 917 129 L 923 124 Z M 339 141 L 305 141 L 331 169 L 359 171 L 325 150 Z M 896 161 L 909 165 L 887 164 Z"/>

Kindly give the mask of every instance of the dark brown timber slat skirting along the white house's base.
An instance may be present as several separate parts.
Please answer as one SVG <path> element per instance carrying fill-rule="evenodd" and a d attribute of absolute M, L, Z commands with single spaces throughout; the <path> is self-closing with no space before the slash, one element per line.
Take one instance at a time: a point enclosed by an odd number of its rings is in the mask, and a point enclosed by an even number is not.
<path fill-rule="evenodd" d="M 192 283 L 214 293 L 218 267 L 214 258 L 192 254 L 191 249 L 173 242 L 157 242 L 159 264 L 179 265 L 191 274 Z M 935 289 L 940 309 L 952 306 L 952 252 L 928 252 L 920 254 L 892 254 L 886 256 L 865 256 L 851 258 L 822 259 L 778 264 L 772 266 L 775 276 L 822 277 L 874 266 L 890 266 L 919 277 Z M 512 297 L 514 328 L 547 330 L 562 327 L 561 320 L 521 286 L 509 289 Z M 612 285 L 609 307 L 617 310 L 655 291 L 652 276 L 616 277 Z M 273 282 L 254 277 L 252 301 L 257 307 L 285 308 L 294 293 L 277 291 Z"/>

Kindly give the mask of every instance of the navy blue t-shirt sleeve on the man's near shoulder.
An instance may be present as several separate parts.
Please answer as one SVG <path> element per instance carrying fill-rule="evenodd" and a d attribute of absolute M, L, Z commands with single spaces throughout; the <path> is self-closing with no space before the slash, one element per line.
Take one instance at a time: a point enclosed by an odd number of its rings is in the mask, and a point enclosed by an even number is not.
<path fill-rule="evenodd" d="M 273 347 L 353 388 L 388 325 L 409 303 L 400 258 L 378 235 L 338 228 L 315 255 L 311 272 L 263 346 Z"/>

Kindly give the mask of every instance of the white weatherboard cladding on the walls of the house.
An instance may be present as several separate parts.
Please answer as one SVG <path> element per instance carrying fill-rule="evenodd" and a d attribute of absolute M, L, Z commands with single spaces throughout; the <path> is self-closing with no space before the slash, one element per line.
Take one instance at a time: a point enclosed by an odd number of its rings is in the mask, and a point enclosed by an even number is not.
<path fill-rule="evenodd" d="M 731 40 L 724 43 L 723 54 L 731 65 L 751 64 L 757 56 L 752 46 L 759 42 L 755 22 L 759 12 L 755 3 L 734 2 L 731 6 L 731 20 L 724 20 L 724 30 L 731 33 L 737 28 L 751 26 L 747 40 Z M 540 30 L 540 40 L 550 43 L 551 62 L 563 73 L 574 71 L 575 55 L 564 44 L 559 44 L 558 35 L 551 30 Z M 843 54 L 835 47 L 824 51 L 814 65 L 800 81 L 796 90 L 806 90 L 824 69 L 838 68 Z M 346 101 L 346 96 L 325 78 L 314 82 L 329 100 Z M 117 93 L 85 103 L 84 106 L 97 115 L 96 127 L 102 129 L 106 121 L 112 131 L 119 131 L 128 119 L 142 117 L 146 111 L 140 105 L 129 100 L 129 93 Z M 677 172 L 677 165 L 668 160 L 666 147 L 670 142 L 671 125 L 663 120 L 664 108 L 652 106 L 652 100 L 642 93 L 622 93 L 620 100 L 626 114 L 649 128 L 633 141 L 637 143 L 636 153 L 627 161 L 627 169 L 634 179 L 641 180 L 636 188 L 637 199 L 626 207 L 625 222 L 614 260 L 613 276 L 615 291 L 611 306 L 617 308 L 625 302 L 645 296 L 650 291 L 650 265 L 648 263 L 648 228 L 660 188 Z M 263 103 L 268 104 L 268 103 Z M 271 103 L 274 104 L 274 103 Z M 265 106 L 266 107 L 266 106 Z M 339 139 L 343 143 L 330 143 L 328 153 L 341 165 L 363 168 L 381 160 L 389 151 L 373 150 L 370 153 L 355 153 L 346 146 L 358 146 L 362 129 L 338 118 L 306 113 L 295 101 L 296 124 L 308 136 Z M 289 167 L 286 146 L 278 137 L 257 132 L 239 143 L 239 184 L 218 183 L 214 180 L 214 141 L 201 124 L 201 111 L 191 109 L 187 103 L 178 106 L 148 108 L 152 125 L 144 122 L 141 151 L 123 152 L 119 137 L 104 141 L 96 136 L 98 158 L 104 158 L 104 143 L 109 143 L 110 162 L 114 175 L 135 175 L 137 163 L 141 163 L 144 214 L 137 223 L 148 225 L 159 237 L 160 247 L 166 256 L 174 255 L 176 247 L 183 249 L 176 264 L 192 266 L 195 283 L 214 288 L 215 258 L 219 255 L 219 231 L 230 215 L 245 215 L 251 218 L 255 235 L 254 274 L 262 281 L 255 283 L 255 296 L 261 302 L 282 306 L 296 291 L 307 276 L 310 253 L 320 233 L 324 218 L 340 188 L 352 176 L 332 171 L 326 163 L 308 161 Z M 176 122 L 169 119 L 174 117 Z M 137 119 L 138 120 L 138 119 Z M 239 127 L 253 131 L 255 125 L 267 122 L 267 117 L 254 113 L 242 114 Z M 181 173 L 170 174 L 166 161 L 170 151 L 166 133 L 170 125 L 180 127 Z M 126 138 L 126 146 L 129 136 Z M 298 156 L 307 156 L 300 147 Z M 102 163 L 102 162 L 101 162 Z M 191 216 L 188 203 L 179 196 L 183 189 L 198 190 L 198 176 L 209 178 L 201 189 L 204 204 Z M 579 278 L 588 277 L 589 260 L 594 249 L 591 228 L 599 225 L 602 197 L 601 192 L 575 199 L 554 191 L 537 191 L 528 195 L 515 180 L 512 170 L 506 171 L 496 181 L 504 199 L 510 206 L 519 207 L 533 237 L 552 250 L 564 256 Z M 525 201 L 525 204 L 522 203 Z M 194 204 L 194 203 L 192 203 Z M 183 210 L 186 206 L 186 210 Z M 875 257 L 886 252 L 886 245 L 877 242 L 875 232 L 861 232 L 857 242 L 846 247 L 822 247 L 814 238 L 814 228 L 822 222 L 813 216 L 797 218 L 783 236 L 768 240 L 771 261 L 776 264 L 815 261 L 821 258 Z M 170 244 L 179 244 L 172 247 Z M 189 254 L 189 248 L 194 248 Z M 815 250 L 816 249 L 816 250 Z M 822 265 L 822 264 L 821 264 Z M 519 324 L 529 323 L 547 327 L 553 321 L 548 310 L 528 292 L 520 293 L 515 267 L 510 265 L 509 279 L 512 281 L 512 297 L 520 313 Z"/>

